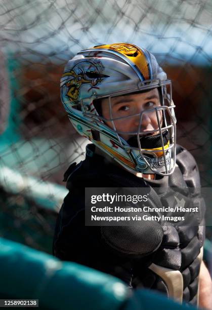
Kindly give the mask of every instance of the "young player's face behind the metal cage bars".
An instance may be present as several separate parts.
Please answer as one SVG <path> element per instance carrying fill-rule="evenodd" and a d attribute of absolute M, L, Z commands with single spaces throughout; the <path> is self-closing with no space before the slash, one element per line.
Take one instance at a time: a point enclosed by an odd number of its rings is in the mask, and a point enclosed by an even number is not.
<path fill-rule="evenodd" d="M 142 111 L 160 106 L 160 98 L 158 89 L 154 88 L 145 93 L 129 94 L 125 96 L 117 96 L 111 98 L 112 118 L 126 117 L 141 113 Z M 105 119 L 111 119 L 108 98 L 102 100 L 102 116 Z M 158 119 L 162 124 L 162 111 L 158 111 Z M 140 115 L 136 115 L 126 119 L 115 120 L 114 125 L 124 140 L 128 140 L 132 135 L 124 134 L 124 132 L 137 132 L 140 121 Z M 113 128 L 112 122 L 105 122 L 110 128 Z M 140 131 L 149 131 L 158 129 L 156 112 L 151 111 L 143 113 Z M 159 132 L 159 131 L 158 131 Z M 153 134 L 157 134 L 154 132 Z"/>

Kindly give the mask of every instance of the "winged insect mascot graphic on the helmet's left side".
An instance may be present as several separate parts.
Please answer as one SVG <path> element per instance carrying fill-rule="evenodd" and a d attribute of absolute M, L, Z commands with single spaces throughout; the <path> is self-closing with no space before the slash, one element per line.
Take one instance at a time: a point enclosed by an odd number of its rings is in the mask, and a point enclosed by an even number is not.
<path fill-rule="evenodd" d="M 67 88 L 65 94 L 69 101 L 77 101 L 80 95 L 82 85 L 91 85 L 88 92 L 92 88 L 98 89 L 97 85 L 101 83 L 108 75 L 102 74 L 99 70 L 99 64 L 91 61 L 80 61 L 72 67 L 71 70 L 65 71 L 62 78 L 68 76 L 68 81 L 64 84 Z M 102 69 L 102 68 L 101 68 Z"/>

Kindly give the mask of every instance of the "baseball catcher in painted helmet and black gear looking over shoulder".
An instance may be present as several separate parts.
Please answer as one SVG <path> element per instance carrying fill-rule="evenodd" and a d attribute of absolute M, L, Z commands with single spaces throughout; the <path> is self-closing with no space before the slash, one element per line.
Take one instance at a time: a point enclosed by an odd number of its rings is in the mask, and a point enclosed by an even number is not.
<path fill-rule="evenodd" d="M 86 159 L 65 173 L 69 193 L 56 225 L 54 255 L 116 276 L 130 288 L 147 287 L 210 308 L 198 167 L 176 144 L 172 85 L 155 57 L 126 43 L 80 51 L 65 67 L 61 99 L 73 127 L 92 144 Z M 177 191 L 178 202 L 198 205 L 199 212 L 189 214 L 185 225 L 153 220 L 85 226 L 86 187 L 148 188 L 153 208 L 173 203 Z"/>

